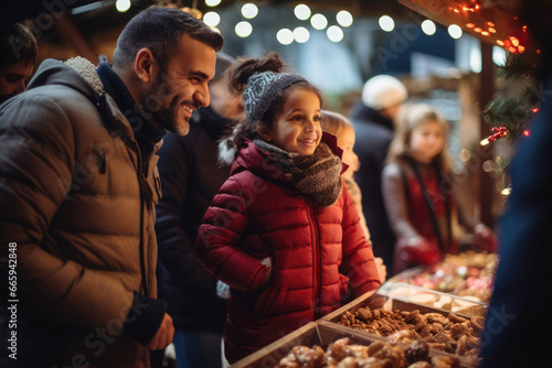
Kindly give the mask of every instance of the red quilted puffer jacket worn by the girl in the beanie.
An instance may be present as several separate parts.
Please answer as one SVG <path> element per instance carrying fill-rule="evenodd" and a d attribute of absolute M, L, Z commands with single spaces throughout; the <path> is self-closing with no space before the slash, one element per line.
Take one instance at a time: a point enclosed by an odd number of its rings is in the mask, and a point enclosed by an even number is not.
<path fill-rule="evenodd" d="M 380 285 L 344 184 L 336 204 L 319 207 L 252 142 L 205 213 L 195 253 L 232 288 L 225 325 L 230 362 Z M 267 286 L 267 268 L 259 263 L 266 257 L 273 260 Z"/>

